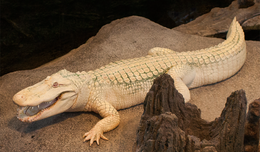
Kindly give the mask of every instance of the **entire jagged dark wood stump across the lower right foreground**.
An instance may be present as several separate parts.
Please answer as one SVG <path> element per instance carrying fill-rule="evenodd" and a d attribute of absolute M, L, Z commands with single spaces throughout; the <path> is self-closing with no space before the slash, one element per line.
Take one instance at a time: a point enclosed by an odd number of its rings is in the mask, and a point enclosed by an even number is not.
<path fill-rule="evenodd" d="M 228 97 L 220 117 L 207 122 L 201 119 L 201 111 L 196 105 L 184 102 L 173 79 L 163 74 L 154 80 L 144 100 L 144 113 L 133 151 L 255 150 L 259 142 L 260 101 L 250 104 L 247 117 L 246 104 L 245 91 L 235 91 Z"/>

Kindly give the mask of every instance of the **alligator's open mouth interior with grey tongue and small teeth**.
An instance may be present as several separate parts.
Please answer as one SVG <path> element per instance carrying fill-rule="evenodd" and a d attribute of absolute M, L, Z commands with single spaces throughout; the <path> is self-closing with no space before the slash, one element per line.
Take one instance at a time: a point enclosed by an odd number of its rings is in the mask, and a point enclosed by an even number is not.
<path fill-rule="evenodd" d="M 59 99 L 59 96 L 49 102 L 42 102 L 38 106 L 34 106 L 34 107 L 30 107 L 30 106 L 19 107 L 18 106 L 17 112 L 22 110 L 22 112 L 19 112 L 20 114 L 23 113 L 23 115 L 25 114 L 26 116 L 33 116 L 33 115 L 38 114 L 39 112 L 43 112 L 44 110 L 53 107 L 54 104 L 58 101 L 58 99 Z M 19 119 L 18 116 L 17 116 L 17 118 Z"/>

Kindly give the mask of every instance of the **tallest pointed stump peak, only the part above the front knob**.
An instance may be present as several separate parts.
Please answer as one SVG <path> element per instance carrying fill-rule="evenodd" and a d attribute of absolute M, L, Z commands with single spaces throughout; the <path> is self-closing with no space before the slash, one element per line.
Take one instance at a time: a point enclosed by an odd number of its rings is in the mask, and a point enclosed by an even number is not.
<path fill-rule="evenodd" d="M 168 74 L 163 74 L 154 80 L 153 86 L 144 99 L 144 111 L 142 117 L 171 112 L 178 118 L 185 119 L 184 98 L 178 93 L 173 79 Z"/>

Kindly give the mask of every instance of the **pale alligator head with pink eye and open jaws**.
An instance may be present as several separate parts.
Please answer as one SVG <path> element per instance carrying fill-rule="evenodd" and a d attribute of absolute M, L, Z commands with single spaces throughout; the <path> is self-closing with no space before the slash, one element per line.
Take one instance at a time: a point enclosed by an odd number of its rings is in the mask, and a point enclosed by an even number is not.
<path fill-rule="evenodd" d="M 78 89 L 64 73 L 69 71 L 61 70 L 15 94 L 13 102 L 18 105 L 17 118 L 33 122 L 71 108 L 77 100 Z"/>

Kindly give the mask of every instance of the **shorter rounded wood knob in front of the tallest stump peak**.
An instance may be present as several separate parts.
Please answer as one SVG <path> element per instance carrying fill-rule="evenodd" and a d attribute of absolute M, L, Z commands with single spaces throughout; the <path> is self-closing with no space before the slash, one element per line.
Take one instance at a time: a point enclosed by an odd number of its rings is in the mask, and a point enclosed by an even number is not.
<path fill-rule="evenodd" d="M 143 139 L 139 152 L 184 152 L 185 133 L 178 127 L 178 118 L 171 112 L 147 120 Z"/>

